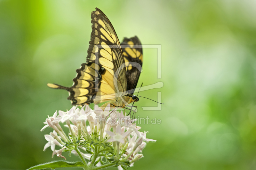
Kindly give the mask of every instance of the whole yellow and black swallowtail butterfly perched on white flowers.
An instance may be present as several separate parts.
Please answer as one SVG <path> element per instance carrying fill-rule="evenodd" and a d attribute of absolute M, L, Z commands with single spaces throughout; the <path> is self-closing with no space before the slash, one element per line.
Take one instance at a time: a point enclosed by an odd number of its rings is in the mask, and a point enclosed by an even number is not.
<path fill-rule="evenodd" d="M 98 8 L 91 13 L 92 33 L 86 63 L 76 70 L 71 87 L 47 85 L 69 92 L 72 105 L 103 104 L 101 108 L 124 108 L 139 101 L 133 95 L 142 69 L 143 55 L 137 36 L 124 38 L 120 44 L 107 16 Z M 133 105 L 133 104 L 132 104 Z"/>

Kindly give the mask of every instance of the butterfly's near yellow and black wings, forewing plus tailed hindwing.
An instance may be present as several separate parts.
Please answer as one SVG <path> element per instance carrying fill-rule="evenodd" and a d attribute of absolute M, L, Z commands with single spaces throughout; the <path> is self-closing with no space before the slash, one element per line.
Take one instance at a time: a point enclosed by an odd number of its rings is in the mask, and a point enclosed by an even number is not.
<path fill-rule="evenodd" d="M 51 88 L 67 90 L 68 100 L 73 105 L 115 100 L 120 92 L 127 91 L 126 70 L 120 67 L 124 65 L 124 56 L 116 32 L 100 9 L 96 8 L 91 18 L 92 33 L 86 63 L 76 70 L 74 84 L 71 87 L 47 84 Z M 116 70 L 119 74 L 115 75 Z"/>

